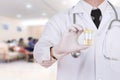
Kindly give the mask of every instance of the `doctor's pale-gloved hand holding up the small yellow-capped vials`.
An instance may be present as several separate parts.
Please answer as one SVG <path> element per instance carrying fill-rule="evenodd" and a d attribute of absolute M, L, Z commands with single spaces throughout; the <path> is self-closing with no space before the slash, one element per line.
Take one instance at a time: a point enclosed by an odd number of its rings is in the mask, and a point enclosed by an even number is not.
<path fill-rule="evenodd" d="M 88 48 L 87 45 L 80 45 L 78 43 L 78 37 L 82 32 L 82 27 L 78 25 L 74 25 L 74 27 L 67 29 L 61 41 L 52 48 L 51 54 L 57 59 L 60 59 L 69 53 L 80 52 L 80 50 Z"/>

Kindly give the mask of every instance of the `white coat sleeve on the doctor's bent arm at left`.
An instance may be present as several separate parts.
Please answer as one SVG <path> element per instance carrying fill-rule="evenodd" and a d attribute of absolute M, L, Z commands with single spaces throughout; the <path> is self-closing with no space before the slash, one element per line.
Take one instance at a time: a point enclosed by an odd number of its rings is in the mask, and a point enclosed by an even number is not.
<path fill-rule="evenodd" d="M 41 38 L 34 48 L 34 58 L 38 63 L 50 61 L 50 47 L 56 45 L 60 40 L 60 19 L 53 17 L 45 26 Z M 49 63 L 48 63 L 49 64 Z"/>

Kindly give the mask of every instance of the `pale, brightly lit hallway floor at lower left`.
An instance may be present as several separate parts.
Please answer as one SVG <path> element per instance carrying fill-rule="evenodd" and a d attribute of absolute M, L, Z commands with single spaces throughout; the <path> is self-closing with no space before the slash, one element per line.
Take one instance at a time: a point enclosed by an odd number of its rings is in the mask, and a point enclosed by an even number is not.
<path fill-rule="evenodd" d="M 50 68 L 23 60 L 0 63 L 0 80 L 56 80 L 56 63 Z"/>

